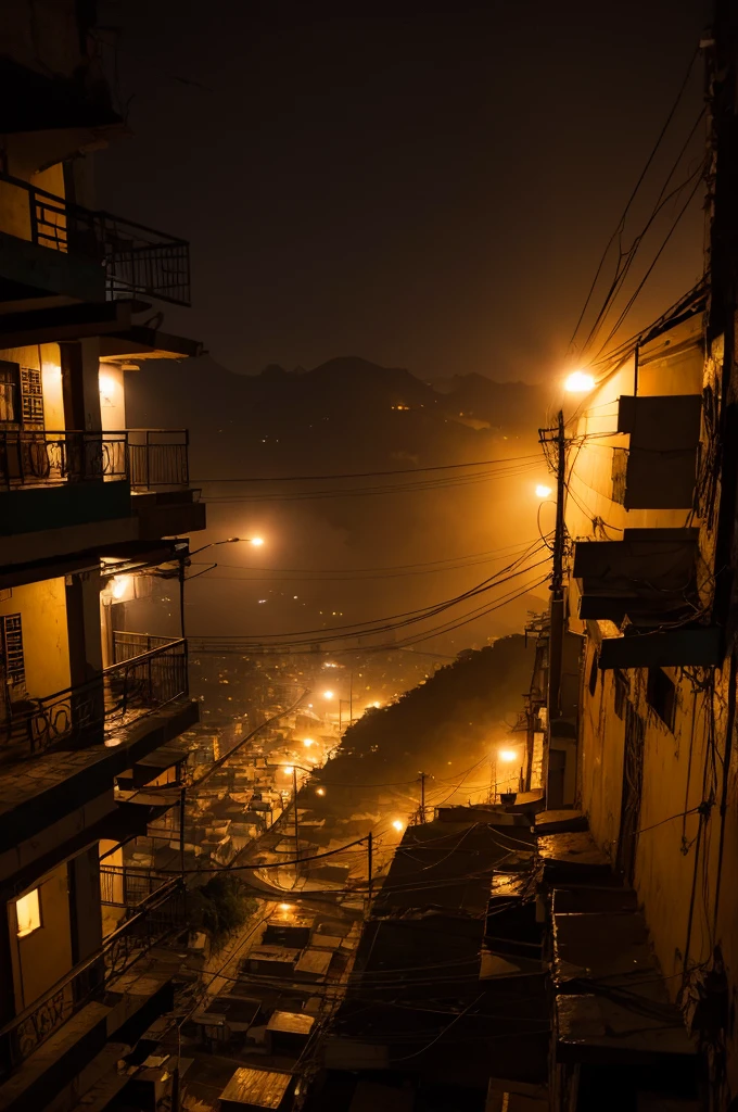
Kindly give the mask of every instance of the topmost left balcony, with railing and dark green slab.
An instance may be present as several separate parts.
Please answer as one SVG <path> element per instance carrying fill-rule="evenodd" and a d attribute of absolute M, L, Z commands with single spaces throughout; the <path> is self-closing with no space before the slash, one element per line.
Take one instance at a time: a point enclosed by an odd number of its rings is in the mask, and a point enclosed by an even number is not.
<path fill-rule="evenodd" d="M 78 300 L 154 297 L 190 304 L 187 240 L 83 208 L 0 175 L 0 297 L 57 294 Z"/>

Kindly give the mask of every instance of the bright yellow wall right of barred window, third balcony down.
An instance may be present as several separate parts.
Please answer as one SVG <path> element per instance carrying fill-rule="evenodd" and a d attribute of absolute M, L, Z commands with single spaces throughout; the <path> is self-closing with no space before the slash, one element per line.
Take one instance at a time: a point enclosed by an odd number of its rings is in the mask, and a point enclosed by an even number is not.
<path fill-rule="evenodd" d="M 53 695 L 70 686 L 67 599 L 63 579 L 13 587 L 0 614 L 20 614 L 29 695 Z"/>

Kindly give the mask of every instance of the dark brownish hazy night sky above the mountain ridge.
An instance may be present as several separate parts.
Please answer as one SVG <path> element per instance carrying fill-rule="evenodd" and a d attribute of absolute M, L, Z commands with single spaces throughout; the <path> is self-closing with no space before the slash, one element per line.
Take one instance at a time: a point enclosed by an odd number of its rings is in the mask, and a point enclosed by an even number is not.
<path fill-rule="evenodd" d="M 164 327 L 230 369 L 360 355 L 539 380 L 707 8 L 104 0 L 132 136 L 100 157 L 99 201 L 191 240 L 195 308 Z M 699 222 L 644 319 L 698 276 Z"/>

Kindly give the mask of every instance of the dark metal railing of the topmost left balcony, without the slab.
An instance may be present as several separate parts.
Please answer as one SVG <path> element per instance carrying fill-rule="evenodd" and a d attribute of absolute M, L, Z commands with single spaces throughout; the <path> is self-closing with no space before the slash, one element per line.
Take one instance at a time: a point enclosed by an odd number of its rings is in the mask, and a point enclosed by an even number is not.
<path fill-rule="evenodd" d="M 78 255 L 104 268 L 109 301 L 136 296 L 190 304 L 190 245 L 166 232 L 102 210 L 70 203 L 20 178 L 0 173 L 9 211 L 26 219 L 0 230 L 39 247 Z M 8 196 L 10 193 L 11 196 Z M 23 203 L 19 206 L 19 200 Z"/>

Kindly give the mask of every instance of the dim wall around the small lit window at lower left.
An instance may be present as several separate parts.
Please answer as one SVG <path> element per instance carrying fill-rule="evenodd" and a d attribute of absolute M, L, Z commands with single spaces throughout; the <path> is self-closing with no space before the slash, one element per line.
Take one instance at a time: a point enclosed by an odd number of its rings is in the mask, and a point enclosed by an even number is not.
<path fill-rule="evenodd" d="M 38 1000 L 72 965 L 67 864 L 48 873 L 36 887 L 39 888 L 41 903 L 41 926 L 38 931 L 19 939 L 16 905 L 8 904 L 13 991 L 18 1011 Z"/>

